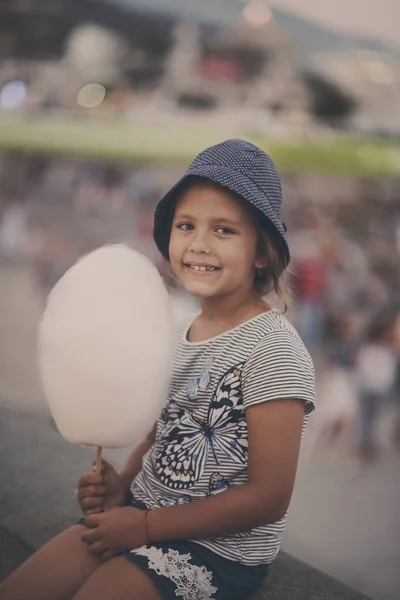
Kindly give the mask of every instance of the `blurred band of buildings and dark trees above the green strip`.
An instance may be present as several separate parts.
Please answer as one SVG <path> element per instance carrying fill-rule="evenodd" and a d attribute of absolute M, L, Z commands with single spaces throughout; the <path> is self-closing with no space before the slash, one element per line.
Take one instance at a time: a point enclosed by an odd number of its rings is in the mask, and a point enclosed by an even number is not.
<path fill-rule="evenodd" d="M 240 107 L 269 134 L 398 132 L 398 48 L 259 0 L 218 10 L 195 0 L 6 0 L 0 10 L 4 108 Z"/>

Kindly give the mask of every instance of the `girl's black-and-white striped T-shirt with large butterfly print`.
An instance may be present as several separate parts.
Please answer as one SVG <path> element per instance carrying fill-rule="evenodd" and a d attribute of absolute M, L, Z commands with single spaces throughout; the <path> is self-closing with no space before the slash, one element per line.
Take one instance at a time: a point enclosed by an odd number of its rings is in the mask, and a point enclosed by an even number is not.
<path fill-rule="evenodd" d="M 245 410 L 274 399 L 304 400 L 303 432 L 314 408 L 312 360 L 295 329 L 275 309 L 217 337 L 179 336 L 169 394 L 156 442 L 132 482 L 149 508 L 201 500 L 246 484 Z M 286 516 L 251 531 L 192 540 L 247 565 L 278 553 Z"/>

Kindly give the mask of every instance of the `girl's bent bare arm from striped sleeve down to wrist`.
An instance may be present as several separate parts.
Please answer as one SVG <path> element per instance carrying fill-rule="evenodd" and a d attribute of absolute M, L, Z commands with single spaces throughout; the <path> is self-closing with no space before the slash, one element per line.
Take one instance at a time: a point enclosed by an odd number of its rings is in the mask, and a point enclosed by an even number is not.
<path fill-rule="evenodd" d="M 222 537 L 282 518 L 296 477 L 303 417 L 304 401 L 296 399 L 248 408 L 248 483 L 204 500 L 151 511 L 150 540 Z"/>

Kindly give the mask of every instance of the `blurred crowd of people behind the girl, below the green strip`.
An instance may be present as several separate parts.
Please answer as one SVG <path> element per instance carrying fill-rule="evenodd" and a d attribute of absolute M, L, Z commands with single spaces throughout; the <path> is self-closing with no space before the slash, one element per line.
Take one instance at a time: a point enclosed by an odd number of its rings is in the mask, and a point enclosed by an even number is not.
<path fill-rule="evenodd" d="M 176 318 L 184 318 L 196 304 L 152 241 L 154 205 L 174 179 L 176 167 L 0 156 L 1 261 L 28 269 L 44 302 L 79 256 L 103 243 L 128 242 L 156 263 Z M 377 459 L 382 446 L 400 448 L 396 206 L 367 195 L 355 208 L 299 195 L 285 215 L 292 251 L 288 317 L 318 375 L 313 445 L 364 462 Z"/>

